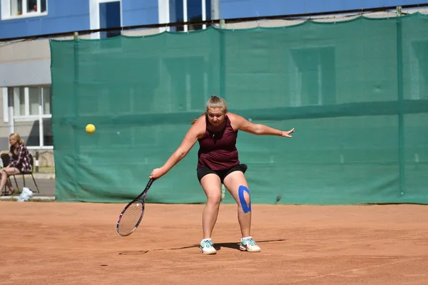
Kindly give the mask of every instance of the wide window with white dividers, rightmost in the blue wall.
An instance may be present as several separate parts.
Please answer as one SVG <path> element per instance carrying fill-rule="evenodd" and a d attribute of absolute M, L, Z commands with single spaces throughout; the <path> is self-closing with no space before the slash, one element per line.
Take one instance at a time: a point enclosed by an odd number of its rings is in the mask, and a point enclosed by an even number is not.
<path fill-rule="evenodd" d="M 211 19 L 211 0 L 169 0 L 170 23 L 205 21 Z M 205 25 L 170 27 L 170 31 L 195 31 Z"/>

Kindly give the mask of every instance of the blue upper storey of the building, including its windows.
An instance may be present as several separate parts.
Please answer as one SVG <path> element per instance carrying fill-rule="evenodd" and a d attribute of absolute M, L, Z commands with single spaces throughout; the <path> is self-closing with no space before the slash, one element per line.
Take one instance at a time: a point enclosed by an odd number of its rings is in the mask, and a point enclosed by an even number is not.
<path fill-rule="evenodd" d="M 220 19 L 418 4 L 417 0 L 218 0 Z M 211 0 L 0 0 L 0 39 L 210 19 Z"/>

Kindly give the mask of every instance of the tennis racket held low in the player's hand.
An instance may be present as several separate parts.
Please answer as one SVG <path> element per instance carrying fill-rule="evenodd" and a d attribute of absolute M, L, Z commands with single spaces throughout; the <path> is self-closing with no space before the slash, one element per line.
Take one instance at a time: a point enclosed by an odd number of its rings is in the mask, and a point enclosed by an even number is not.
<path fill-rule="evenodd" d="M 146 189 L 136 199 L 129 202 L 119 215 L 116 231 L 122 237 L 132 234 L 137 229 L 141 219 L 143 219 L 146 195 L 152 183 L 153 179 L 148 180 Z"/>

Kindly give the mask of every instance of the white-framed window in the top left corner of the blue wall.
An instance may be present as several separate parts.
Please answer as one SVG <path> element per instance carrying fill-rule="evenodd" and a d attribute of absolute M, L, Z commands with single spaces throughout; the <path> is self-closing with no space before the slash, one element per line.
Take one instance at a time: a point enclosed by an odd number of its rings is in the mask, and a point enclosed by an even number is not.
<path fill-rule="evenodd" d="M 47 0 L 1 0 L 1 18 L 44 16 L 47 14 Z"/>

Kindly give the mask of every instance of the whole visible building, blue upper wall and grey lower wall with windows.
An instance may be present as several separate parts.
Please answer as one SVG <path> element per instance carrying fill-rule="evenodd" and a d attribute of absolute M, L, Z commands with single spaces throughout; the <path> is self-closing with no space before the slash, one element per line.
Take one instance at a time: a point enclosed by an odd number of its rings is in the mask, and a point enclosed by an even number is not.
<path fill-rule="evenodd" d="M 99 28 L 310 14 L 417 4 L 412 0 L 0 0 L 0 149 L 18 132 L 31 149 L 53 149 L 49 38 L 44 35 Z M 215 13 L 213 13 L 215 12 Z M 187 31 L 200 26 L 170 27 Z M 155 29 L 153 33 L 160 31 Z M 93 33 L 91 38 L 121 32 Z M 31 41 L 21 37 L 40 36 Z M 11 38 L 14 38 L 13 40 Z M 69 38 L 69 37 L 68 37 Z"/>

